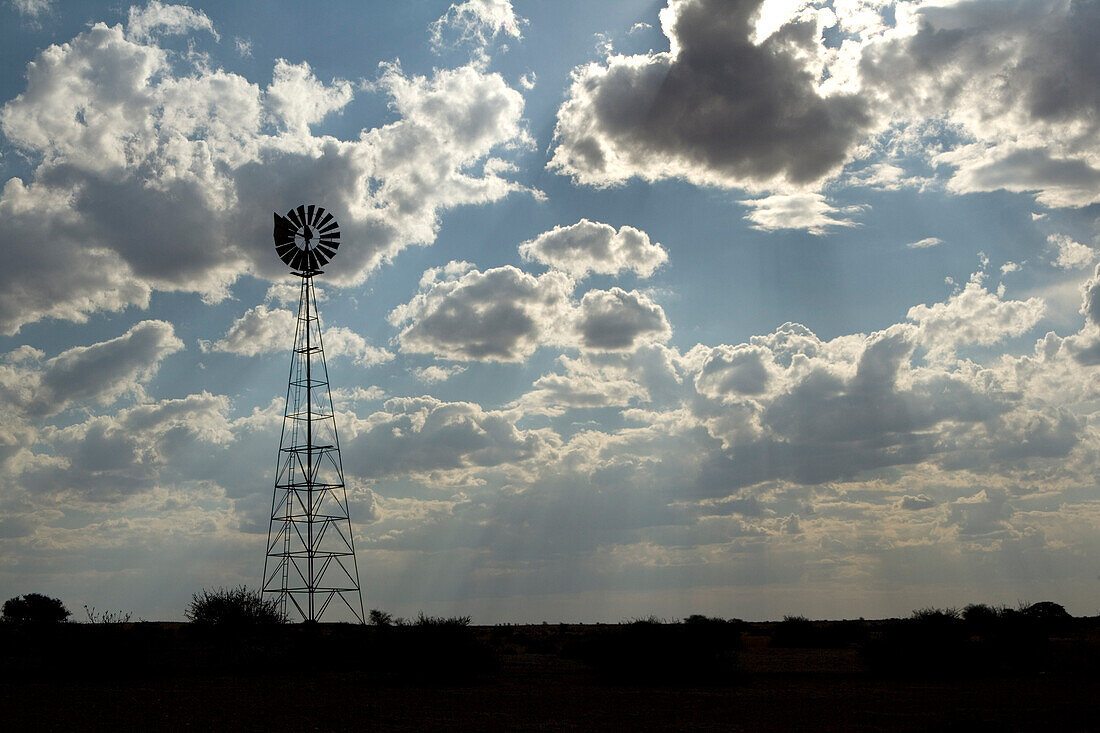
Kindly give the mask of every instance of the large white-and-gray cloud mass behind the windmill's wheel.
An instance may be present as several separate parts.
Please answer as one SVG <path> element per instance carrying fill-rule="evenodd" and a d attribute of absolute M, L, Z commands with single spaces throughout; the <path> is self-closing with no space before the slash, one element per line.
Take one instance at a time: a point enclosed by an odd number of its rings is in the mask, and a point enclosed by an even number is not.
<path fill-rule="evenodd" d="M 432 242 L 439 211 L 525 190 L 497 155 L 529 144 L 522 97 L 498 74 L 387 65 L 370 88 L 396 119 L 339 140 L 312 128 L 351 100 L 346 81 L 278 61 L 262 88 L 175 59 L 157 34 L 206 22 L 180 8 L 151 3 L 129 31 L 97 23 L 47 46 L 0 108 L 8 143 L 35 166 L 0 193 L 0 245 L 48 242 L 0 273 L 0 331 L 144 307 L 154 291 L 218 300 L 241 274 L 279 276 L 261 243 L 271 209 L 304 203 L 302 190 L 340 221 L 337 285 Z"/>

